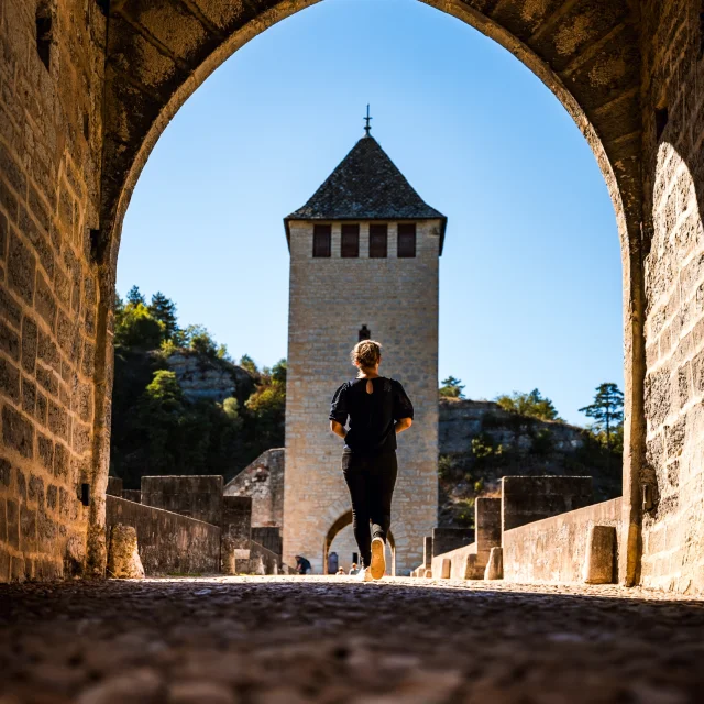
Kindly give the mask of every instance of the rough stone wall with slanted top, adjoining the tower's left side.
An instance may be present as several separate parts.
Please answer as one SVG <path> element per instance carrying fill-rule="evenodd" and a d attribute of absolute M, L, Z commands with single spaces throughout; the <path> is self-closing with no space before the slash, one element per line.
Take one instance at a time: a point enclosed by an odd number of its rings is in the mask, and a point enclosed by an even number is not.
<path fill-rule="evenodd" d="M 226 496 L 252 498 L 252 526 L 284 524 L 284 448 L 266 450 L 226 484 Z"/>

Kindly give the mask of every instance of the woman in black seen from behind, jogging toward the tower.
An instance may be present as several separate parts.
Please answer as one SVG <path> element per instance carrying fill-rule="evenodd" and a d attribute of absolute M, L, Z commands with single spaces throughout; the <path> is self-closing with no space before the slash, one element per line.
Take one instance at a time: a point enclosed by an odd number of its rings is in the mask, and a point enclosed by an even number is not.
<path fill-rule="evenodd" d="M 404 387 L 378 375 L 382 345 L 364 340 L 352 350 L 358 377 L 338 388 L 330 408 L 330 429 L 344 440 L 342 474 L 352 499 L 352 528 L 365 582 L 386 571 L 386 535 L 396 484 L 396 436 L 410 428 L 414 407 Z M 350 420 L 350 429 L 345 425 Z M 371 530 L 370 530 L 371 524 Z"/>

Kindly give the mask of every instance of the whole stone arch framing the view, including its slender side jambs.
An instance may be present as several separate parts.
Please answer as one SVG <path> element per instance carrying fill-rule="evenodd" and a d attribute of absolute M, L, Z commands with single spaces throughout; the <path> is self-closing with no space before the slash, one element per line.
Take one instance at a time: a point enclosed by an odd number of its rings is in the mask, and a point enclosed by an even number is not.
<path fill-rule="evenodd" d="M 317 0 L 118 0 L 110 3 L 103 97 L 94 487 L 109 461 L 111 305 L 122 219 L 158 136 L 196 88 L 244 43 Z M 644 460 L 641 54 L 630 0 L 424 0 L 495 40 L 557 96 L 590 143 L 608 187 L 624 271 L 626 414 L 622 575 L 636 579 Z M 100 502 L 91 510 L 92 562 L 102 562 Z"/>

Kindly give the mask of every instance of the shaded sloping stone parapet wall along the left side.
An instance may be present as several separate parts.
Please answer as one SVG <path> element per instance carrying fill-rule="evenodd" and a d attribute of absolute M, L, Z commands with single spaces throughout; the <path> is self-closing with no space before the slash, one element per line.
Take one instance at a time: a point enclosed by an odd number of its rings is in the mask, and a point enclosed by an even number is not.
<path fill-rule="evenodd" d="M 108 496 L 106 506 L 108 536 L 117 524 L 136 530 L 140 558 L 147 576 L 220 571 L 219 526 L 117 496 Z"/>

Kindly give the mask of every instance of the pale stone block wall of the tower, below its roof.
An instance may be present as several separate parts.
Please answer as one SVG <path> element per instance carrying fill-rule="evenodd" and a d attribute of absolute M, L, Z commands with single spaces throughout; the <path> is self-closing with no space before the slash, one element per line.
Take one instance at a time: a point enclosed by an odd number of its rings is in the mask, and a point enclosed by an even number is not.
<path fill-rule="evenodd" d="M 343 443 L 330 432 L 328 415 L 336 389 L 356 375 L 350 350 L 364 324 L 384 345 L 381 374 L 404 384 L 416 408 L 414 427 L 398 439 L 392 530 L 398 573 L 420 562 L 422 537 L 430 535 L 438 506 L 439 234 L 439 221 L 419 222 L 417 256 L 397 258 L 392 222 L 389 256 L 369 258 L 369 223 L 362 222 L 360 257 L 342 258 L 337 223 L 332 256 L 314 258 L 312 224 L 290 222 L 284 488 L 284 560 L 290 564 L 302 554 L 315 572 L 322 572 L 326 536 L 350 509 L 341 472 Z M 331 307 L 330 292 L 348 284 L 354 295 Z"/>

